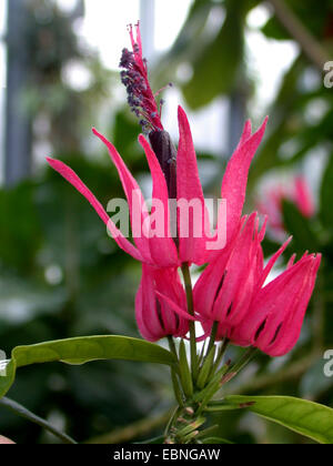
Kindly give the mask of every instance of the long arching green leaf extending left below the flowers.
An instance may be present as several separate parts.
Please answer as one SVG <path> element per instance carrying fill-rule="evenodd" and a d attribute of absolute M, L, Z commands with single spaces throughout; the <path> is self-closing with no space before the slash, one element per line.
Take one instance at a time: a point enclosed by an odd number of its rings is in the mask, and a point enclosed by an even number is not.
<path fill-rule="evenodd" d="M 0 397 L 4 396 L 13 384 L 18 367 L 57 361 L 81 365 L 98 359 L 140 361 L 169 366 L 176 362 L 168 350 L 127 336 L 82 336 L 31 346 L 17 346 L 7 366 L 7 375 L 0 376 Z"/>

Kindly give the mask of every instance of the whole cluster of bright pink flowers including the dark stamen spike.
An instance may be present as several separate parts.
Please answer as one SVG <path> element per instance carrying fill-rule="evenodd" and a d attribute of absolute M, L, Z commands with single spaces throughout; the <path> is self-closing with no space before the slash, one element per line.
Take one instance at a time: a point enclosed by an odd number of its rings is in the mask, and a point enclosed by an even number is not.
<path fill-rule="evenodd" d="M 266 284 L 268 276 L 291 239 L 264 265 L 262 241 L 266 221 L 260 227 L 256 213 L 242 215 L 251 162 L 263 139 L 268 120 L 256 132 L 246 122 L 241 141 L 226 166 L 221 197 L 226 202 L 226 244 L 211 251 L 206 247 L 206 230 L 195 234 L 195 222 L 189 219 L 188 235 L 180 234 L 182 219 L 171 219 L 170 197 L 178 201 L 199 200 L 204 223 L 210 223 L 199 179 L 196 155 L 186 114 L 179 108 L 178 151 L 171 145 L 160 120 L 158 104 L 151 91 L 147 62 L 142 58 L 140 29 L 137 39 L 130 28 L 132 51 L 124 50 L 121 59 L 122 81 L 127 87 L 129 103 L 140 114 L 144 128 L 150 129 L 149 140 L 139 136 L 150 168 L 153 199 L 164 206 L 163 235 L 138 235 L 130 242 L 115 226 L 103 206 L 64 163 L 48 159 L 50 165 L 68 180 L 94 207 L 118 245 L 142 263 L 142 281 L 135 301 L 135 315 L 142 336 L 155 342 L 162 337 L 185 337 L 193 322 L 202 324 L 208 336 L 216 327 L 216 338 L 228 338 L 240 346 L 258 347 L 271 356 L 281 356 L 296 344 L 305 311 L 311 298 L 321 255 L 305 253 L 295 262 L 292 256 L 286 270 Z M 97 130 L 94 134 L 105 144 L 114 163 L 132 213 L 133 200 L 142 205 L 138 219 L 131 215 L 132 229 L 152 230 L 153 212 L 145 205 L 143 194 L 117 149 Z M 153 143 L 153 141 L 159 141 Z M 170 155 L 170 159 L 165 159 Z M 167 161 L 167 162 L 165 162 Z M 167 169 L 174 164 L 173 171 Z M 169 163 L 169 165 L 168 165 Z M 172 188 L 173 186 L 173 188 Z M 218 219 L 223 222 L 222 211 Z M 170 234 L 175 222 L 176 237 Z M 174 225 L 173 225 L 174 226 Z M 191 264 L 206 265 L 194 287 L 194 307 L 189 312 L 185 290 L 179 267 Z"/>

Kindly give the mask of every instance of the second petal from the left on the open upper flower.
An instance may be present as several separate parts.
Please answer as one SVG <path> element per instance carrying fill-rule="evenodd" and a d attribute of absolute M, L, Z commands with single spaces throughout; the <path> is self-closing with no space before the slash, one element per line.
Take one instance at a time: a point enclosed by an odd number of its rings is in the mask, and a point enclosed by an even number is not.
<path fill-rule="evenodd" d="M 94 128 L 92 132 L 107 145 L 109 150 L 110 158 L 118 170 L 129 202 L 134 243 L 141 252 L 143 260 L 151 263 L 152 260 L 148 242 L 148 232 L 143 229 L 144 225 L 148 226 L 149 224 L 149 213 L 140 186 L 113 144 L 111 144 L 111 142 L 100 134 Z"/>

